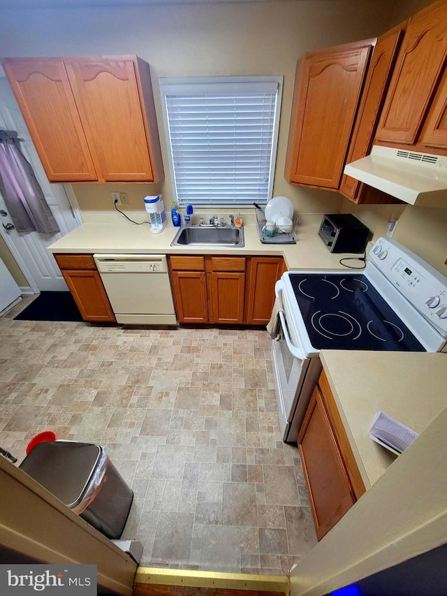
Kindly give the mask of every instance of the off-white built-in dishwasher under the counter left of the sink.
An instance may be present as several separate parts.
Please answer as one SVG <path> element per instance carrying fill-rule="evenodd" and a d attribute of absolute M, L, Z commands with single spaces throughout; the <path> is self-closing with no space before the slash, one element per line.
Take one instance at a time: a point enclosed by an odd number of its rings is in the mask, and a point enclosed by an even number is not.
<path fill-rule="evenodd" d="M 177 325 L 164 254 L 94 254 L 118 323 Z"/>

